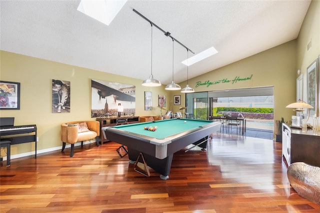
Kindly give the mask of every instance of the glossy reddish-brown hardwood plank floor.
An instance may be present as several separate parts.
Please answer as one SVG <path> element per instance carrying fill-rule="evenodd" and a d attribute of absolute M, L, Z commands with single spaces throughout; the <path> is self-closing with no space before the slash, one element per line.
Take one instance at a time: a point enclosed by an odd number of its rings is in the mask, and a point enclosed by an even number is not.
<path fill-rule="evenodd" d="M 1 162 L 1 212 L 320 212 L 289 185 L 281 143 L 215 133 L 173 155 L 169 179 L 133 170 L 119 144 Z"/>

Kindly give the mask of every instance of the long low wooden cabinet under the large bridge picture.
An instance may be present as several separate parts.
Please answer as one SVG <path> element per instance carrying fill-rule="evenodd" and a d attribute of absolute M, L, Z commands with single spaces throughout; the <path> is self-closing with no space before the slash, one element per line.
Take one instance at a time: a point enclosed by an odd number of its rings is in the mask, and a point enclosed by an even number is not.
<path fill-rule="evenodd" d="M 103 142 L 108 141 L 108 139 L 104 138 L 103 132 L 101 130 L 102 127 L 137 123 L 139 122 L 139 117 L 138 116 L 97 117 L 96 120 L 100 122 L 100 143 L 103 144 Z"/>

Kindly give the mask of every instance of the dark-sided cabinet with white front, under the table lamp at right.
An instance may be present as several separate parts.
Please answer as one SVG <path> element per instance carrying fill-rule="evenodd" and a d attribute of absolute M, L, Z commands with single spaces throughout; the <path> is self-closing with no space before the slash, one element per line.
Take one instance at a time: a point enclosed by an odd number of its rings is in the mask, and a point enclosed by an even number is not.
<path fill-rule="evenodd" d="M 288 165 L 305 162 L 320 167 L 320 131 L 289 127 L 282 123 L 282 155 Z"/>

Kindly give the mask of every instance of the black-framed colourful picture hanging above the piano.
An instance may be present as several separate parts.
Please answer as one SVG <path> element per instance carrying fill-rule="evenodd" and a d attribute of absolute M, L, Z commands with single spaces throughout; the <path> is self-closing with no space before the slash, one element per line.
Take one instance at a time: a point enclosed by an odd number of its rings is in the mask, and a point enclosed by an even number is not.
<path fill-rule="evenodd" d="M 20 83 L 0 80 L 0 109 L 20 109 Z"/>

